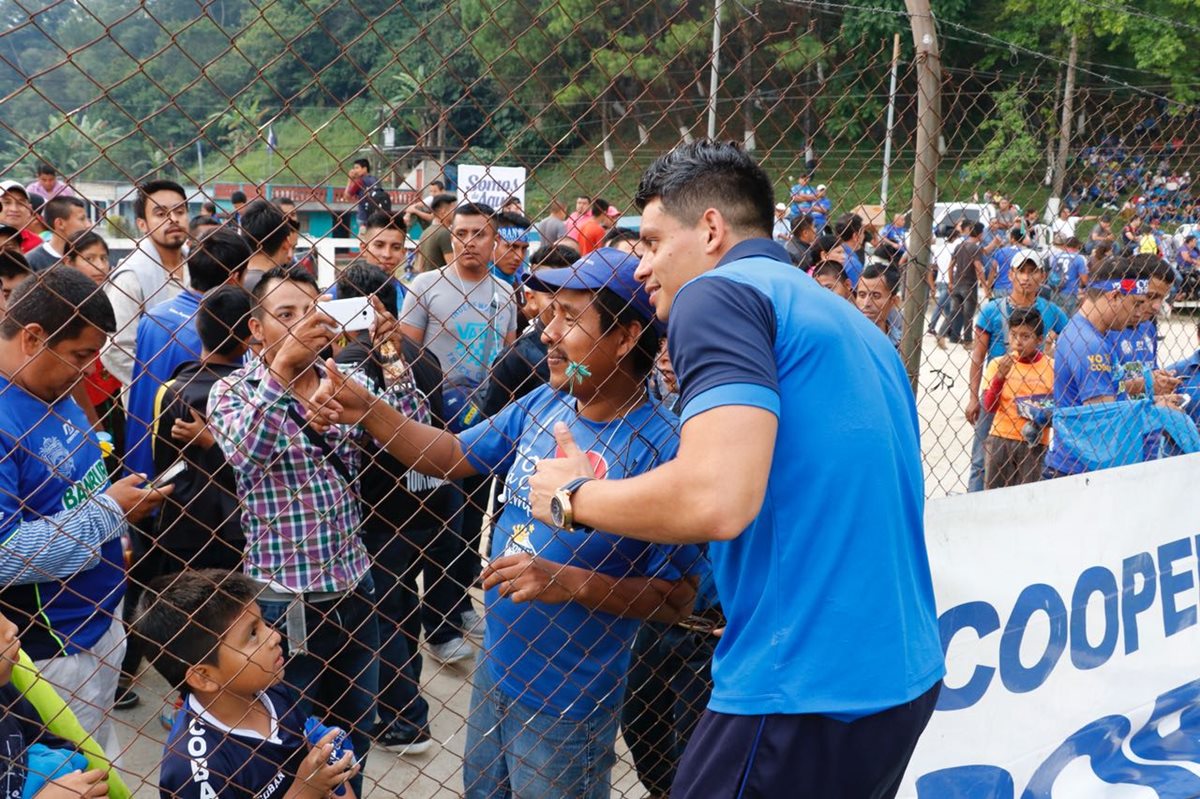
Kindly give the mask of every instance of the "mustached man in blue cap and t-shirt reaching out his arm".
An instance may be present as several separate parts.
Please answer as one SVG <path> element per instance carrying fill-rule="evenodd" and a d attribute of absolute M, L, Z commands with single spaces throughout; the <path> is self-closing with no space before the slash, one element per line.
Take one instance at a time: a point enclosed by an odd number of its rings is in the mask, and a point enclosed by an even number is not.
<path fill-rule="evenodd" d="M 702 561 L 662 546 L 538 521 L 529 475 L 562 452 L 565 425 L 593 477 L 625 477 L 671 459 L 678 420 L 647 395 L 659 326 L 634 276 L 637 258 L 593 251 L 530 281 L 552 293 L 550 383 L 457 435 L 374 403 L 330 364 L 322 398 L 361 421 L 401 462 L 458 479 L 505 475 L 504 511 L 484 570 L 486 630 L 468 717 L 468 799 L 607 799 L 638 619 L 688 614 Z M 379 308 L 376 308 L 379 312 Z"/>

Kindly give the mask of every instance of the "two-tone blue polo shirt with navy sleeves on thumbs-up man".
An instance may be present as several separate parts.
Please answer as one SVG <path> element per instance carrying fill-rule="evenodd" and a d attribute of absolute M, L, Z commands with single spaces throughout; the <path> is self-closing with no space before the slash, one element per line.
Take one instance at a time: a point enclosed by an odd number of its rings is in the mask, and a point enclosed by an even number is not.
<path fill-rule="evenodd" d="M 944 668 L 917 408 L 887 337 L 752 239 L 679 290 L 667 340 L 684 425 L 779 420 L 758 516 L 709 545 L 728 619 L 709 708 L 848 720 L 928 691 Z"/>

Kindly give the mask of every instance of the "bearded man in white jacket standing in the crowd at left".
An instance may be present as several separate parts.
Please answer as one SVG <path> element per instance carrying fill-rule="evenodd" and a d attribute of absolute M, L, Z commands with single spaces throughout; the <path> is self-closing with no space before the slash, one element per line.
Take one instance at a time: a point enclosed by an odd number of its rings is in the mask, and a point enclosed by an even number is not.
<path fill-rule="evenodd" d="M 143 238 L 104 284 L 116 317 L 116 332 L 100 356 L 104 368 L 124 386 L 133 379 L 138 319 L 148 308 L 173 300 L 184 290 L 187 193 L 170 180 L 143 184 L 133 200 L 133 217 Z M 121 398 L 127 402 L 128 394 L 122 391 Z"/>

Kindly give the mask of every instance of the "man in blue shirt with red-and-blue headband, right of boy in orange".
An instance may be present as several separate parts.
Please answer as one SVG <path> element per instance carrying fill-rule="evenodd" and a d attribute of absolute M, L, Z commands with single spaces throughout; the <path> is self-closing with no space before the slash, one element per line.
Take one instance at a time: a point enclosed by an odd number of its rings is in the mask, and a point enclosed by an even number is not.
<path fill-rule="evenodd" d="M 1109 256 L 1092 270 L 1079 312 L 1072 317 L 1055 348 L 1056 408 L 1112 402 L 1130 391 L 1141 392 L 1142 378 L 1122 382 L 1111 334 L 1136 324 L 1145 314 L 1147 281 L 1144 275 L 1141 266 L 1121 256 Z M 1121 434 L 1122 431 L 1112 431 L 1112 435 Z M 1043 477 L 1049 480 L 1085 470 L 1062 437 L 1051 438 Z"/>

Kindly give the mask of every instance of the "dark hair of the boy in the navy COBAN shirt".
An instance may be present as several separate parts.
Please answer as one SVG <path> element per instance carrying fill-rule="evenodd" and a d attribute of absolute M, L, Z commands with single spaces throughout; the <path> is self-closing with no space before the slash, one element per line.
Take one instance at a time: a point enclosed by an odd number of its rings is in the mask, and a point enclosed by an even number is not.
<path fill-rule="evenodd" d="M 187 671 L 217 663 L 221 638 L 258 591 L 250 577 L 220 569 L 156 577 L 133 623 L 146 660 L 167 683 L 186 692 Z"/>

